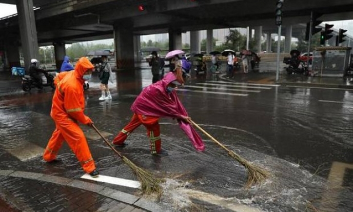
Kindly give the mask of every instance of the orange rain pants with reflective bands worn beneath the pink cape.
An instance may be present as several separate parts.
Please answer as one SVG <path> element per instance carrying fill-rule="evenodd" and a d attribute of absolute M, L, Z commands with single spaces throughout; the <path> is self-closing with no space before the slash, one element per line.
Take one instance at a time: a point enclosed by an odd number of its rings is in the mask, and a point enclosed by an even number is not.
<path fill-rule="evenodd" d="M 129 134 L 143 124 L 147 129 L 147 136 L 150 140 L 151 154 L 159 152 L 161 150 L 161 131 L 158 121 L 159 117 L 151 117 L 148 115 L 134 113 L 129 124 L 127 124 L 114 138 L 113 144 L 123 144 Z"/>

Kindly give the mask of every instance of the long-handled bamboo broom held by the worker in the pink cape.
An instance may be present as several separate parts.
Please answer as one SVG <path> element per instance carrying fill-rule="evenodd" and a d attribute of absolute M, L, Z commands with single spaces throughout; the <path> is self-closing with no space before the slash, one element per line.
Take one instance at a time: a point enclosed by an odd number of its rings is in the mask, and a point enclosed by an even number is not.
<path fill-rule="evenodd" d="M 223 149 L 225 149 L 228 152 L 228 155 L 230 155 L 232 158 L 236 159 L 240 164 L 242 164 L 248 171 L 248 179 L 246 182 L 246 187 L 249 188 L 252 185 L 255 184 L 260 184 L 262 181 L 264 181 L 268 176 L 270 175 L 268 171 L 265 169 L 256 166 L 248 161 L 246 161 L 243 157 L 239 156 L 237 153 L 229 150 L 227 147 L 225 147 L 223 144 L 221 144 L 219 141 L 215 140 L 210 134 L 208 134 L 204 129 L 202 129 L 198 124 L 190 120 L 193 125 L 195 125 L 199 130 L 201 130 L 203 133 L 206 134 L 214 143 L 218 144 L 221 146 Z"/>

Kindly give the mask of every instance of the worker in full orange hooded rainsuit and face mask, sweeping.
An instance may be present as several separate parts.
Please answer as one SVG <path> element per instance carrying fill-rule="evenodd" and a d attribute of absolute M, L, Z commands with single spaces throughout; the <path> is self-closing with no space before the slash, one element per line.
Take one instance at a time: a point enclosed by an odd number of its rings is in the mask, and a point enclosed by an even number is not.
<path fill-rule="evenodd" d="M 55 130 L 44 151 L 47 162 L 61 161 L 56 158 L 64 140 L 75 153 L 84 171 L 92 177 L 99 176 L 85 135 L 78 122 L 92 126 L 92 120 L 84 114 L 85 99 L 83 84 L 92 75 L 93 65 L 86 57 L 81 57 L 74 71 L 58 78 L 50 115 L 55 122 Z"/>

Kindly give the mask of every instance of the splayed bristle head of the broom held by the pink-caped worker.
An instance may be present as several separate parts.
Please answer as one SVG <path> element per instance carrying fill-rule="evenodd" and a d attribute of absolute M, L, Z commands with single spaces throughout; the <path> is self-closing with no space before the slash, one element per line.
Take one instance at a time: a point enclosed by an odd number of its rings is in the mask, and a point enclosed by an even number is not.
<path fill-rule="evenodd" d="M 249 187 L 256 185 L 256 184 L 260 184 L 270 176 L 270 174 L 267 170 L 265 170 L 257 165 L 249 163 L 244 158 L 237 155 L 237 153 L 235 153 L 233 151 L 229 151 L 228 154 L 231 157 L 233 157 L 234 159 L 236 159 L 240 164 L 242 164 L 247 169 L 248 179 L 247 179 L 246 186 L 245 186 L 246 188 L 249 188 Z"/>

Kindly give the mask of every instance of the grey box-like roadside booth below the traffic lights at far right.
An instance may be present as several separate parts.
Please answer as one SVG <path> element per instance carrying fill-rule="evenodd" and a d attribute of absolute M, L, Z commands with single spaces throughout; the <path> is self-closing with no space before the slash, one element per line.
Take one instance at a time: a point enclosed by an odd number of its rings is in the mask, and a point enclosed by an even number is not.
<path fill-rule="evenodd" d="M 317 47 L 312 52 L 311 75 L 342 75 L 349 65 L 351 47 Z"/>

